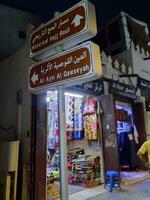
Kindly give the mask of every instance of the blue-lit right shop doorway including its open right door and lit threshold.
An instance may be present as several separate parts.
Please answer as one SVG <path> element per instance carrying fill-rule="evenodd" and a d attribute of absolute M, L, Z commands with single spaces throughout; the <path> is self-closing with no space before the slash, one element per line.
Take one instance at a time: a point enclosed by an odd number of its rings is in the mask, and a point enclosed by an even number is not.
<path fill-rule="evenodd" d="M 122 182 L 131 184 L 148 177 L 136 155 L 146 140 L 143 104 L 115 101 L 115 107 Z"/>

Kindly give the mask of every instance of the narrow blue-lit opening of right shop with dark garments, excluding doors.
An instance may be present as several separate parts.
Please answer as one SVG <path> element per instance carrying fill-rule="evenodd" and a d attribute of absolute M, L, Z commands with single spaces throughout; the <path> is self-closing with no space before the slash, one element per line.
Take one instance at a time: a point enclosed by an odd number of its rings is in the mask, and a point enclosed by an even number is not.
<path fill-rule="evenodd" d="M 133 171 L 138 167 L 138 133 L 133 120 L 132 104 L 115 101 L 117 140 L 121 171 Z"/>

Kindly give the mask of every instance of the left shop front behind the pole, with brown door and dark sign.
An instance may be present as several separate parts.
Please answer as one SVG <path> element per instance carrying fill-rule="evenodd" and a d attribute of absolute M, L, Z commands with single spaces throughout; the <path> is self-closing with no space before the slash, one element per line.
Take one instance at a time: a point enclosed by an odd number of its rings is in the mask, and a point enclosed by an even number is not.
<path fill-rule="evenodd" d="M 104 94 L 101 79 L 65 89 L 65 118 L 67 139 L 67 182 L 69 199 L 93 192 L 86 198 L 101 192 L 104 177 L 102 149 L 102 108 L 100 97 Z M 35 174 L 34 191 L 46 199 L 61 196 L 60 169 L 60 128 L 58 91 L 33 95 L 36 109 L 33 120 L 36 135 L 33 135 L 33 169 Z M 44 133 L 44 134 L 43 134 Z M 45 194 L 43 194 L 45 193 Z"/>

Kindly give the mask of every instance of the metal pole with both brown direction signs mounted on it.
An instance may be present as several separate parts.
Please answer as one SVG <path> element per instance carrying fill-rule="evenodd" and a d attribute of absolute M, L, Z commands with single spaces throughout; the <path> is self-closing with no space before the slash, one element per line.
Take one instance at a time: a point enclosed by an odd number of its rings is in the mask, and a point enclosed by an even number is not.
<path fill-rule="evenodd" d="M 68 200 L 64 88 L 92 81 L 102 75 L 99 46 L 92 42 L 75 46 L 94 37 L 96 33 L 95 7 L 83 0 L 39 26 L 30 36 L 30 57 L 44 60 L 29 68 L 29 91 L 58 90 L 62 200 Z"/>

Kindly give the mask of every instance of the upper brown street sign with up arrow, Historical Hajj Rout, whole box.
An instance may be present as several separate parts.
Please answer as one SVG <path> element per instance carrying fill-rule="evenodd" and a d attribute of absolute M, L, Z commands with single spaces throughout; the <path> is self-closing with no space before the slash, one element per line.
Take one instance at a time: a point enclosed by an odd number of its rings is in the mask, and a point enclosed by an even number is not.
<path fill-rule="evenodd" d="M 97 33 L 95 7 L 83 0 L 49 22 L 39 26 L 30 37 L 30 57 L 41 60 L 88 40 Z"/>

